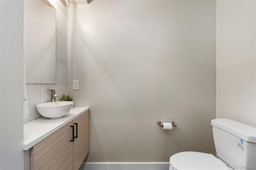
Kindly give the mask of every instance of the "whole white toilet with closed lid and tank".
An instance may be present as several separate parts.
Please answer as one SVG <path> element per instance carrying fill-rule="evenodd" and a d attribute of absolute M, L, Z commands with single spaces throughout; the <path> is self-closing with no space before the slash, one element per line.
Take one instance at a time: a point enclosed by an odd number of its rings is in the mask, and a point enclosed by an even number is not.
<path fill-rule="evenodd" d="M 216 158 L 201 152 L 170 157 L 169 170 L 256 170 L 256 128 L 230 119 L 211 122 Z"/>

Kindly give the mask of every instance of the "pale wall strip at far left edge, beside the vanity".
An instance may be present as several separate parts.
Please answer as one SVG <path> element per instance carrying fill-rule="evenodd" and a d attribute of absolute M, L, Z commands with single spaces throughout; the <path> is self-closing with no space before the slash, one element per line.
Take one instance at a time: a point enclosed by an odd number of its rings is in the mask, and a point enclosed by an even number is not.
<path fill-rule="evenodd" d="M 0 1 L 0 169 L 23 169 L 23 1 Z"/>

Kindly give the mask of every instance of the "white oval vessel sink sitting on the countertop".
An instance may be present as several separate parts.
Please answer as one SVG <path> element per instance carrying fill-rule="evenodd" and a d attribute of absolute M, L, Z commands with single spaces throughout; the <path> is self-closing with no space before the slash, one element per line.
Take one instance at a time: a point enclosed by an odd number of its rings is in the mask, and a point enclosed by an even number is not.
<path fill-rule="evenodd" d="M 36 105 L 36 109 L 43 117 L 58 119 L 68 114 L 70 109 L 73 107 L 73 104 L 74 102 L 72 101 L 40 103 Z"/>

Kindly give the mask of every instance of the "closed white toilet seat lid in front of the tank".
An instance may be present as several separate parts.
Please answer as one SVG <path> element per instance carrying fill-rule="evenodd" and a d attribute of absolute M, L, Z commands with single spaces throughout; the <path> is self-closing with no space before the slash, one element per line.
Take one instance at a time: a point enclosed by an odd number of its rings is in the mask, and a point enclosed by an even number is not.
<path fill-rule="evenodd" d="M 212 154 L 202 152 L 179 152 L 170 157 L 173 170 L 230 170 Z"/>

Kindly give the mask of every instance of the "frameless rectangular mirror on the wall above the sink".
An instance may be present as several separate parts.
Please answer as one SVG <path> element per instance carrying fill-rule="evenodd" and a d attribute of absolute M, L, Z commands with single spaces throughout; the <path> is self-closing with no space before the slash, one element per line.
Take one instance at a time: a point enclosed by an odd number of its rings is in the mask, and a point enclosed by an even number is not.
<path fill-rule="evenodd" d="M 43 0 L 24 1 L 26 83 L 56 83 L 56 9 Z"/>

